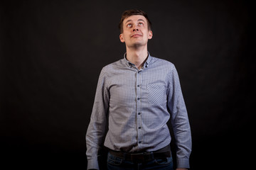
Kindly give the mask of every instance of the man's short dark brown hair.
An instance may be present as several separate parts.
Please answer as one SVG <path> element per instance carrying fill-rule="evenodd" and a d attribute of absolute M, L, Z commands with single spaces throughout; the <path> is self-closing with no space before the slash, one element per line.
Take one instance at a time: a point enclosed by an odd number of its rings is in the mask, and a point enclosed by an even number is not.
<path fill-rule="evenodd" d="M 119 22 L 119 30 L 120 30 L 120 33 L 123 32 L 123 21 L 125 18 L 128 18 L 129 16 L 135 16 L 135 15 L 141 15 L 141 16 L 144 16 L 146 18 L 146 21 L 148 23 L 148 29 L 151 30 L 151 22 L 149 21 L 149 17 L 147 16 L 147 14 L 140 10 L 140 9 L 129 9 L 127 11 L 124 11 L 122 13 L 122 16 L 121 16 L 121 20 Z"/>

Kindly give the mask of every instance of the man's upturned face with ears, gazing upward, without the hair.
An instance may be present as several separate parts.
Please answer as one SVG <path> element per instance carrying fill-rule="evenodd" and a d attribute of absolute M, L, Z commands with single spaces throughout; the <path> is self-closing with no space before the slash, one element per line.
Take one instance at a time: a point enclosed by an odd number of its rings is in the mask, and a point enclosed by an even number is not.
<path fill-rule="evenodd" d="M 146 45 L 153 33 L 148 29 L 146 18 L 141 15 L 129 16 L 123 21 L 123 33 L 119 35 L 120 41 L 127 47 Z"/>

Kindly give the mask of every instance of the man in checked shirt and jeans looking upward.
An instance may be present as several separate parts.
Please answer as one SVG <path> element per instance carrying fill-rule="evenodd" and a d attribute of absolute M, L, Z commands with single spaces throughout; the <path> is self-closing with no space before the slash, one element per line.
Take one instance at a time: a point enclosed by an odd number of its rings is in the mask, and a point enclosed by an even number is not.
<path fill-rule="evenodd" d="M 177 169 L 188 169 L 191 130 L 174 64 L 149 55 L 153 33 L 144 11 L 124 11 L 119 29 L 127 52 L 100 73 L 86 135 L 87 169 L 99 169 L 104 139 L 107 169 L 173 169 L 169 118 Z"/>

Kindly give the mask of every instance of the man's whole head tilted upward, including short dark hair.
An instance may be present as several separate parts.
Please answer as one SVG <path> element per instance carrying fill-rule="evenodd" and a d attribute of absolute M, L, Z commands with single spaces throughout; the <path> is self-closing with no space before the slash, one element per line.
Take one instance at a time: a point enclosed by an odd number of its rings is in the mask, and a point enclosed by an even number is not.
<path fill-rule="evenodd" d="M 125 42 L 127 47 L 146 47 L 148 40 L 153 36 L 151 22 L 141 10 L 124 11 L 119 28 L 120 41 Z"/>

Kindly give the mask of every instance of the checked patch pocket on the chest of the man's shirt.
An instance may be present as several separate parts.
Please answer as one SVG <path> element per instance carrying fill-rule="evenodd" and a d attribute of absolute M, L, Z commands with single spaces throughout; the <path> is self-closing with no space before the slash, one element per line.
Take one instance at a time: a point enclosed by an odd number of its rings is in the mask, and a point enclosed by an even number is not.
<path fill-rule="evenodd" d="M 165 84 L 148 84 L 148 100 L 151 106 L 166 105 L 167 95 Z"/>

